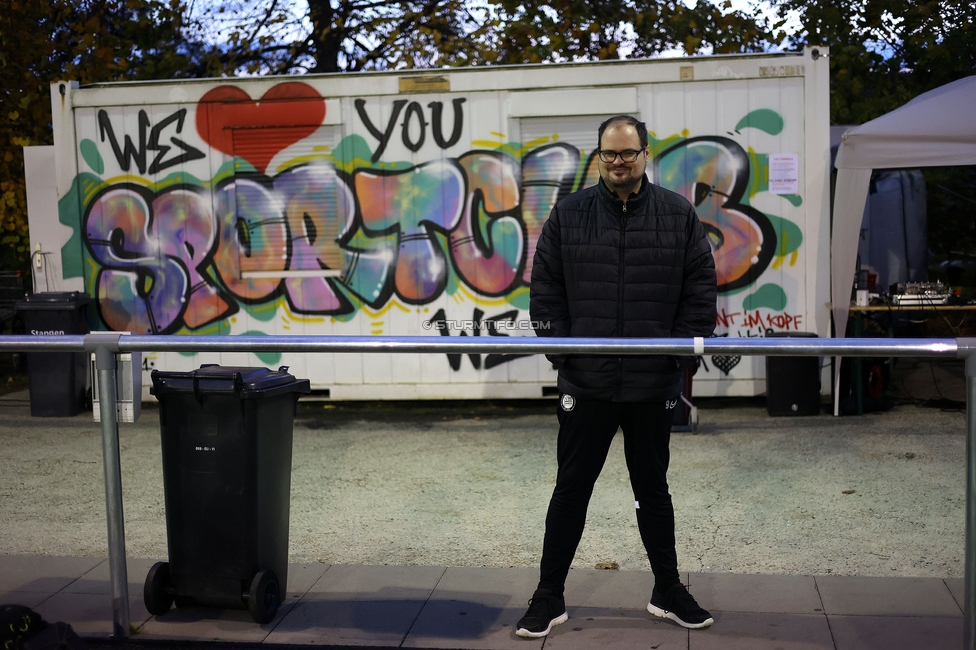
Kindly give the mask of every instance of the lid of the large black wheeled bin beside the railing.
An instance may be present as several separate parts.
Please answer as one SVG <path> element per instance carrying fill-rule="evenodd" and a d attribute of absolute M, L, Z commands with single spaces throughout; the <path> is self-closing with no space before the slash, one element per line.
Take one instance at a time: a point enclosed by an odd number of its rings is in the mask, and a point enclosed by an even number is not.
<path fill-rule="evenodd" d="M 153 370 L 153 395 L 166 393 L 227 394 L 242 398 L 271 397 L 280 393 L 308 393 L 307 379 L 296 379 L 288 366 L 278 370 L 264 367 L 205 364 L 189 372 Z"/>

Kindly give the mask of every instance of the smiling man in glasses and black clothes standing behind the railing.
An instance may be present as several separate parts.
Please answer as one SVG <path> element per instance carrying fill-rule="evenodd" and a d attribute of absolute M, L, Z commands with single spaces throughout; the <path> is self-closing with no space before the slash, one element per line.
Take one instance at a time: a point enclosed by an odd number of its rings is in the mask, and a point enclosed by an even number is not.
<path fill-rule="evenodd" d="M 715 263 L 695 209 L 648 182 L 647 127 L 600 125 L 600 182 L 560 201 L 539 236 L 530 313 L 538 336 L 692 338 L 715 328 Z M 516 633 L 545 636 L 568 618 L 563 588 L 593 485 L 618 427 L 637 525 L 654 574 L 647 610 L 707 627 L 678 575 L 667 471 L 673 409 L 692 359 L 551 356 L 559 371 L 558 472 L 546 515 L 539 585 Z"/>

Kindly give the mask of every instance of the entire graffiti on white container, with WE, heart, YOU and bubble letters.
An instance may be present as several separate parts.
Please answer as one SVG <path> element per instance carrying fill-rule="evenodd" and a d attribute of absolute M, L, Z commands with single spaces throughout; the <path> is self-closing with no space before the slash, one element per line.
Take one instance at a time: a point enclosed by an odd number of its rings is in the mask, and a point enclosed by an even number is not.
<path fill-rule="evenodd" d="M 382 162 L 397 135 L 411 152 L 428 136 L 441 150 L 455 147 L 465 132 L 465 101 L 454 99 L 445 110 L 443 102 L 425 109 L 397 99 L 383 118 L 358 99 L 356 114 L 375 146 L 352 135 L 332 153 L 286 159 L 279 154 L 325 118 L 326 101 L 314 89 L 278 84 L 256 100 L 235 86 L 209 91 L 196 107 L 196 128 L 212 151 L 238 161 L 232 171 L 211 183 L 175 173 L 154 184 L 131 175 L 124 182 L 92 177 L 98 189 L 84 201 L 81 233 L 99 317 L 113 330 L 174 333 L 277 300 L 292 313 L 314 316 L 346 316 L 394 299 L 430 305 L 458 287 L 486 300 L 524 301 L 542 226 L 560 198 L 595 182 L 593 152 L 566 142 L 506 143 L 416 164 Z M 186 120 L 185 108 L 156 124 L 140 112 L 135 139 L 104 111 L 97 124 L 121 169 L 153 175 L 204 156 L 186 143 Z M 336 152 L 347 144 L 359 149 L 341 158 Z M 101 174 L 97 145 L 82 145 L 84 159 Z M 789 224 L 748 204 L 758 172 L 735 141 L 674 137 L 655 150 L 650 169 L 656 182 L 694 203 L 721 292 L 751 286 L 785 254 L 777 235 Z M 799 241 L 795 233 L 793 240 Z M 795 242 L 787 251 L 794 259 Z M 801 317 L 786 313 L 782 290 L 774 297 L 784 302 L 781 313 L 722 309 L 718 324 L 799 329 Z M 753 304 L 772 304 L 764 300 Z M 518 309 L 492 318 L 515 319 Z M 483 316 L 475 309 L 475 321 Z M 440 309 L 430 322 L 445 318 Z M 510 358 L 472 355 L 471 363 L 490 368 Z M 461 356 L 450 362 L 459 369 Z"/>

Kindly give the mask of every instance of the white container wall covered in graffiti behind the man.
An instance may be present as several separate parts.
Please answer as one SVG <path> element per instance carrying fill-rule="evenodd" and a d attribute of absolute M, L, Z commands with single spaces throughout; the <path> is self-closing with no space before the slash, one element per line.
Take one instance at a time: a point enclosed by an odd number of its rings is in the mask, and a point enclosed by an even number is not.
<path fill-rule="evenodd" d="M 52 86 L 58 289 L 93 329 L 533 336 L 556 200 L 598 178 L 600 122 L 647 123 L 651 180 L 698 210 L 719 336 L 828 335 L 827 59 L 703 57 Z M 40 223 L 40 222 L 39 222 Z M 710 357 L 695 395 L 765 390 Z M 330 399 L 540 397 L 543 356 L 152 354 L 143 368 L 290 366 Z M 148 385 L 148 376 L 144 378 Z"/>

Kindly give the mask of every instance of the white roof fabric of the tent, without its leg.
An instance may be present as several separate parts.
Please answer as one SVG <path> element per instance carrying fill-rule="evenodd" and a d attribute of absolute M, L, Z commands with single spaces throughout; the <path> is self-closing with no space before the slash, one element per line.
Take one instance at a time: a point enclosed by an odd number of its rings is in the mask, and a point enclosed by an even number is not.
<path fill-rule="evenodd" d="M 976 165 L 976 75 L 849 129 L 837 169 Z"/>

